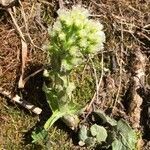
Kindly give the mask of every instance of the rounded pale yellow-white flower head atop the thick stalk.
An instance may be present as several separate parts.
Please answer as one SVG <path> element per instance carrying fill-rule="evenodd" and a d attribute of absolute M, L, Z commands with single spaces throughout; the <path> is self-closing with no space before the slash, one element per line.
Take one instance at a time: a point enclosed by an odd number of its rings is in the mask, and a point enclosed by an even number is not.
<path fill-rule="evenodd" d="M 58 18 L 49 34 L 51 52 L 60 55 L 61 68 L 71 70 L 83 62 L 83 56 L 96 54 L 103 48 L 103 25 L 89 19 L 89 11 L 81 6 L 58 10 Z"/>

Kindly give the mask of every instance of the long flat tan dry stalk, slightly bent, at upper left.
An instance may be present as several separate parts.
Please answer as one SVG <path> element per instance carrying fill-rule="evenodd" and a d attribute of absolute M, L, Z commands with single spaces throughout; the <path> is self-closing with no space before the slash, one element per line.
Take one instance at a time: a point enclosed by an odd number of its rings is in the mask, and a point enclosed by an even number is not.
<path fill-rule="evenodd" d="M 20 27 L 18 26 L 18 24 L 16 22 L 15 17 L 13 16 L 11 8 L 8 8 L 7 10 L 8 10 L 8 12 L 9 12 L 11 18 L 12 18 L 12 21 L 13 21 L 20 37 L 21 37 L 21 43 L 22 43 L 22 68 L 21 68 L 21 76 L 20 76 L 20 79 L 19 79 L 19 82 L 18 82 L 18 87 L 23 88 L 24 87 L 23 75 L 24 75 L 24 69 L 25 69 L 25 62 L 26 62 L 26 58 L 27 58 L 27 43 L 26 43 L 26 40 L 24 38 L 24 35 L 23 35 Z"/>

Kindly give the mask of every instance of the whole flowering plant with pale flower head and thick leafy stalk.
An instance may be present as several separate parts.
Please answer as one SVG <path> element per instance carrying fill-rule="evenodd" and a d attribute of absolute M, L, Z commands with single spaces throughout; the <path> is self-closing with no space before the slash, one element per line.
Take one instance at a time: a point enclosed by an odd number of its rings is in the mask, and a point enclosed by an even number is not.
<path fill-rule="evenodd" d="M 102 24 L 88 17 L 88 10 L 81 6 L 74 6 L 72 10 L 60 9 L 56 22 L 49 29 L 48 51 L 52 68 L 44 74 L 52 83 L 44 85 L 43 89 L 52 116 L 44 125 L 46 131 L 59 118 L 72 129 L 79 122 L 77 114 L 80 108 L 73 102 L 72 92 L 75 85 L 69 81 L 69 75 L 74 67 L 84 63 L 88 56 L 97 54 L 105 42 Z M 37 136 L 34 134 L 32 137 L 36 141 Z"/>

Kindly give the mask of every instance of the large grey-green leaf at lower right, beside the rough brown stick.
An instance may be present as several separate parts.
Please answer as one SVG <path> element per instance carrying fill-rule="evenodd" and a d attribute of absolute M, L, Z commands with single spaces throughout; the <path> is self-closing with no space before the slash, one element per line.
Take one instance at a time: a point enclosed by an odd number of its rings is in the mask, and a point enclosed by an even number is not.
<path fill-rule="evenodd" d="M 135 150 L 138 140 L 136 132 L 129 126 L 129 124 L 121 119 L 117 123 L 118 140 L 122 142 L 123 149 Z"/>

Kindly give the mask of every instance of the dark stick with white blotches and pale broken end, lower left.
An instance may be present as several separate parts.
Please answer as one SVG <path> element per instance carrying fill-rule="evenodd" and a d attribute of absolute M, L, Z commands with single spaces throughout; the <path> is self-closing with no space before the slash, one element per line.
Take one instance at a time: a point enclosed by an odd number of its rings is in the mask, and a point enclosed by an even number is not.
<path fill-rule="evenodd" d="M 15 95 L 14 97 L 12 97 L 10 92 L 4 91 L 3 88 L 1 87 L 0 87 L 0 94 L 2 94 L 3 96 L 6 96 L 7 98 L 11 99 L 12 102 L 20 104 L 21 106 L 34 112 L 37 115 L 41 114 L 42 112 L 41 108 L 36 107 L 25 100 L 22 100 L 19 95 Z"/>

